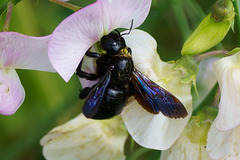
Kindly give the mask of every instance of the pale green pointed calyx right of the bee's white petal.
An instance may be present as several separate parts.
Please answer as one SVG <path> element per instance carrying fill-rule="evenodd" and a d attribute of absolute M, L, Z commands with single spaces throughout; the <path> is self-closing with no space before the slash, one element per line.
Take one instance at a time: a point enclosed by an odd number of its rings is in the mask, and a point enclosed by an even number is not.
<path fill-rule="evenodd" d="M 183 83 L 193 83 L 194 89 L 197 92 L 196 78 L 199 71 L 199 64 L 196 62 L 195 58 L 192 56 L 183 56 L 181 59 L 177 60 L 174 68 L 179 68 L 183 77 L 181 82 Z"/>

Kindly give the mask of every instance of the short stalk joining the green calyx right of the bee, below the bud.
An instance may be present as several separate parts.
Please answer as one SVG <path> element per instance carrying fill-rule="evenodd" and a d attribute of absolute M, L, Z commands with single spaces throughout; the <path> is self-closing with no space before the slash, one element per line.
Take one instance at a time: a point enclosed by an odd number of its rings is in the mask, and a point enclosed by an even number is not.
<path fill-rule="evenodd" d="M 194 56 L 194 58 L 199 63 L 202 60 L 204 60 L 206 58 L 209 58 L 209 57 L 212 57 L 212 56 L 217 56 L 217 55 L 228 56 L 228 54 L 227 54 L 228 52 L 229 51 L 226 51 L 226 50 L 209 51 L 209 52 L 206 52 L 206 53 L 202 53 L 202 54 L 196 55 L 196 56 Z"/>

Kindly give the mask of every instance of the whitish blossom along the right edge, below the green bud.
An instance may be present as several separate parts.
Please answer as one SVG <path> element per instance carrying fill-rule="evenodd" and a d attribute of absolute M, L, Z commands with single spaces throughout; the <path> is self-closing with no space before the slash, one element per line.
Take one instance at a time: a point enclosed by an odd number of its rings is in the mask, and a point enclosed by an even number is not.
<path fill-rule="evenodd" d="M 219 112 L 207 139 L 207 151 L 212 159 L 239 159 L 240 133 L 240 52 L 222 58 L 213 65 L 221 98 Z"/>

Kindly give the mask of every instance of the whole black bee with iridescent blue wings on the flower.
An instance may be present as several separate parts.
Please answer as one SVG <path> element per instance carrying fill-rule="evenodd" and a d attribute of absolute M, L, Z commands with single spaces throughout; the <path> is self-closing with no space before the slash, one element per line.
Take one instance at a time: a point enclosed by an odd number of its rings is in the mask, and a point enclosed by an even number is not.
<path fill-rule="evenodd" d="M 152 114 L 162 112 L 170 118 L 187 116 L 185 107 L 174 95 L 134 68 L 132 51 L 118 31 L 103 36 L 100 45 L 106 54 L 86 52 L 87 56 L 97 58 L 96 74 L 82 71 L 82 61 L 76 71 L 81 78 L 100 79 L 93 87 L 80 91 L 79 98 L 86 98 L 83 114 L 87 118 L 108 119 L 118 115 L 132 95 Z"/>

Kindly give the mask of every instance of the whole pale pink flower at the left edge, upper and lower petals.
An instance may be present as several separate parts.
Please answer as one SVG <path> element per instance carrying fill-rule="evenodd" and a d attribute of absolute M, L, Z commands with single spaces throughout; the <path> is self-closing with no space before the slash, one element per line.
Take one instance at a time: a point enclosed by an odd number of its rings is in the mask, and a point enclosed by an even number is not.
<path fill-rule="evenodd" d="M 49 38 L 0 32 L 0 114 L 14 114 L 24 101 L 24 88 L 15 69 L 54 71 L 47 56 Z"/>

